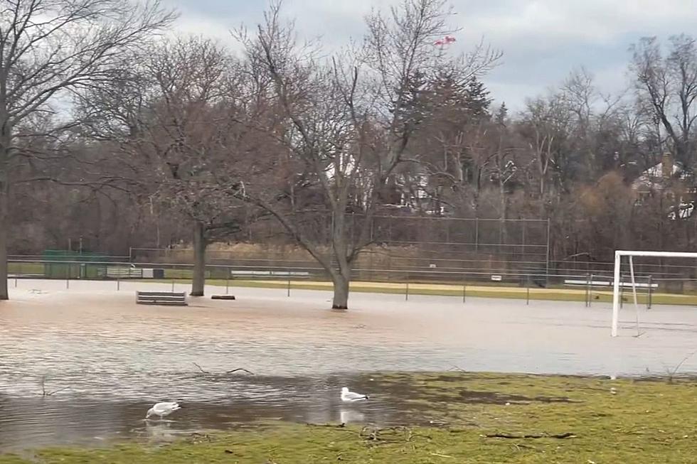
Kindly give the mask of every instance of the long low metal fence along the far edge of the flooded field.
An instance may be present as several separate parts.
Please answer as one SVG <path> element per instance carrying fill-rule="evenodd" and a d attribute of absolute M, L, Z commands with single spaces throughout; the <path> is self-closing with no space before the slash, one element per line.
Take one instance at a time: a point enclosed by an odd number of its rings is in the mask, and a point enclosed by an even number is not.
<path fill-rule="evenodd" d="M 79 260 L 43 260 L 24 257 L 13 257 L 9 260 L 10 279 L 14 279 L 14 285 L 18 285 L 21 279 L 55 279 L 65 281 L 66 288 L 70 288 L 70 281 L 115 281 L 116 288 L 121 287 L 123 281 L 160 281 L 175 284 L 188 282 L 193 276 L 191 264 L 179 263 L 132 263 L 127 261 L 79 261 Z M 664 301 L 697 304 L 697 279 L 683 278 L 656 278 L 651 274 L 635 273 L 639 283 L 639 293 L 642 304 L 650 307 L 656 302 L 655 295 L 684 296 L 684 301 L 672 301 L 663 298 Z M 230 287 L 238 286 L 283 286 L 288 294 L 292 288 L 330 288 L 331 278 L 324 269 L 317 266 L 284 266 L 264 265 L 230 265 L 209 264 L 206 266 L 206 279 L 209 284 Z M 496 288 L 516 287 L 516 297 L 525 298 L 528 303 L 531 298 L 545 299 L 570 299 L 565 294 L 575 296 L 578 301 L 585 301 L 586 306 L 591 306 L 597 299 L 609 301 L 612 294 L 612 272 L 599 271 L 564 272 L 548 274 L 541 269 L 516 269 L 514 271 L 492 272 L 477 269 L 380 269 L 380 268 L 356 268 L 352 270 L 351 280 L 360 286 L 361 282 L 371 282 L 376 291 L 388 291 L 389 293 L 405 293 L 405 298 L 410 294 L 445 294 L 459 295 L 463 300 L 469 296 L 497 296 Z M 622 274 L 623 292 L 627 292 L 629 274 Z M 385 284 L 384 288 L 375 284 Z M 469 292 L 468 292 L 469 288 Z M 541 290 L 546 288 L 546 290 Z M 487 290 L 489 289 L 489 290 Z M 369 291 L 367 287 L 366 291 Z M 579 293 L 581 291 L 581 293 Z M 544 293 L 542 293 L 544 292 Z M 631 293 L 631 288 L 629 289 Z M 582 296 L 581 296 L 582 295 Z M 694 300 L 688 297 L 695 296 Z M 602 297 L 602 298 L 601 298 Z"/>

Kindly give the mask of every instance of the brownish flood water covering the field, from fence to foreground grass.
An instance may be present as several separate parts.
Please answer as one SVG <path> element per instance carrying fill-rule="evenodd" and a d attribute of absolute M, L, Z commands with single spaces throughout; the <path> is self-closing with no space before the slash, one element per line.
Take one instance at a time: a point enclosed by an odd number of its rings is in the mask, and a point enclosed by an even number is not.
<path fill-rule="evenodd" d="M 156 287 L 107 285 L 21 281 L 0 303 L 0 451 L 257 419 L 420 423 L 371 372 L 656 375 L 697 350 L 691 308 L 643 311 L 639 338 L 625 310 L 612 339 L 600 305 L 356 294 L 342 313 L 324 292 L 235 288 L 238 301 L 162 308 L 134 304 L 135 288 Z M 237 368 L 254 374 L 226 374 Z M 344 386 L 374 401 L 341 404 Z M 143 420 L 166 400 L 183 406 L 171 421 Z"/>

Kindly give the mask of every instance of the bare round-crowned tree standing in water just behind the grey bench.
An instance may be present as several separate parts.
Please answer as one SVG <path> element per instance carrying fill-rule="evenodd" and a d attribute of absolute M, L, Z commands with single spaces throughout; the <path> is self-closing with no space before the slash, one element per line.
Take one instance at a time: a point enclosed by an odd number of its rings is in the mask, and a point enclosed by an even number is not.
<path fill-rule="evenodd" d="M 138 62 L 86 95 L 83 120 L 91 134 L 119 141 L 118 158 L 149 201 L 191 222 L 191 295 L 203 296 L 206 247 L 242 227 L 233 192 L 250 166 L 243 122 L 254 98 L 242 64 L 213 41 L 165 41 Z"/>

